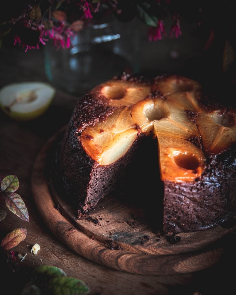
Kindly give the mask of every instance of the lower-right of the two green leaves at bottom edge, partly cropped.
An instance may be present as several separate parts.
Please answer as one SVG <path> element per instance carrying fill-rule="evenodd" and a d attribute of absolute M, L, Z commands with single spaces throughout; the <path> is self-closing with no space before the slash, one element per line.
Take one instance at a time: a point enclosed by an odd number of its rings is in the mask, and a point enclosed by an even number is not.
<path fill-rule="evenodd" d="M 89 293 L 89 287 L 81 280 L 71 277 L 54 278 L 50 282 L 54 295 L 85 295 Z"/>

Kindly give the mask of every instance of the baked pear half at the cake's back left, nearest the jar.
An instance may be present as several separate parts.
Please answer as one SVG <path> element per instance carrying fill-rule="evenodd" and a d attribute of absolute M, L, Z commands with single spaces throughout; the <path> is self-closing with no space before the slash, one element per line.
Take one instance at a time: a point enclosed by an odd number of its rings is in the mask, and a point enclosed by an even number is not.
<path fill-rule="evenodd" d="M 111 106 L 131 106 L 144 99 L 150 93 L 150 85 L 135 82 L 108 81 L 92 90 L 96 95 L 106 97 Z"/>

